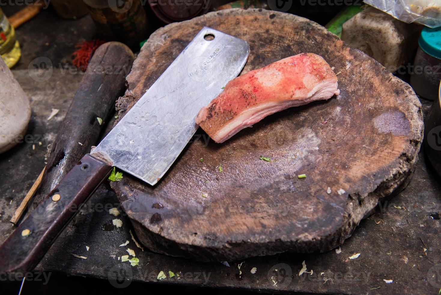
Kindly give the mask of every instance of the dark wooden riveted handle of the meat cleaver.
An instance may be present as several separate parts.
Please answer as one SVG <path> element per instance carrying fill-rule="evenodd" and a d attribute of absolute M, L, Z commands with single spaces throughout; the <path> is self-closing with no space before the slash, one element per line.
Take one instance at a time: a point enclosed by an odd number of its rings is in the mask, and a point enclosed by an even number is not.
<path fill-rule="evenodd" d="M 82 157 L 0 246 L 0 273 L 32 271 L 111 170 L 90 154 Z"/>

